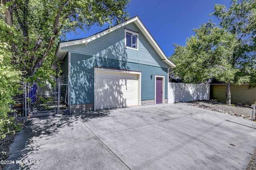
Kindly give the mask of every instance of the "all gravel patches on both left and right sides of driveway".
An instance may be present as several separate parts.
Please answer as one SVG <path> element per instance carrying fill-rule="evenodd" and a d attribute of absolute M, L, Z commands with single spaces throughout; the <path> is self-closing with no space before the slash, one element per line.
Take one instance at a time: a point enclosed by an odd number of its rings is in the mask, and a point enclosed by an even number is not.
<path fill-rule="evenodd" d="M 218 111 L 228 115 L 242 117 L 244 119 L 248 119 L 248 121 L 251 120 L 252 118 L 252 107 L 248 105 L 246 106 L 241 104 L 234 104 L 234 106 L 228 106 L 228 105 L 225 105 L 225 103 L 213 101 L 213 100 L 192 101 L 192 102 L 186 102 L 184 104 L 192 105 L 194 107 L 200 107 L 200 108 L 208 109 L 212 111 Z M 20 121 L 22 122 L 23 119 L 21 119 Z M 8 158 L 8 155 L 5 153 L 8 152 L 10 148 L 10 144 L 15 136 L 16 134 L 8 135 L 6 136 L 6 138 L 0 139 L 0 160 L 6 160 L 6 158 Z M 2 164 L 0 164 L 0 170 L 1 169 L 2 169 Z M 246 170 L 256 170 L 256 150 L 252 155 L 252 158 L 248 163 Z"/>

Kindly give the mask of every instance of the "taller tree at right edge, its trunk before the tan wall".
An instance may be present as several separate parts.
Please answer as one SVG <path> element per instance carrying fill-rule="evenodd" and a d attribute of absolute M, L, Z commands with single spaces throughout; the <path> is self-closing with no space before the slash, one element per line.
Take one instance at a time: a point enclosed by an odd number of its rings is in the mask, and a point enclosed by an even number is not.
<path fill-rule="evenodd" d="M 236 72 L 234 83 L 256 83 L 256 1 L 232 0 L 229 9 L 216 4 L 212 13 L 220 20 L 220 26 L 236 36 L 239 45 L 232 53 L 232 67 Z M 229 86 L 229 87 L 228 87 Z M 226 96 L 230 97 L 230 83 Z M 230 103 L 230 102 L 229 102 Z"/>

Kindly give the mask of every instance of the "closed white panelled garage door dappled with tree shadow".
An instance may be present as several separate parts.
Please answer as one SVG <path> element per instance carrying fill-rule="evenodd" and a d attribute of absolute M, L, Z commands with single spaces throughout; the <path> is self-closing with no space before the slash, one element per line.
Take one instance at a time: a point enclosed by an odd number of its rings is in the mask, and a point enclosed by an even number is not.
<path fill-rule="evenodd" d="M 138 106 L 138 74 L 96 71 L 94 110 Z"/>

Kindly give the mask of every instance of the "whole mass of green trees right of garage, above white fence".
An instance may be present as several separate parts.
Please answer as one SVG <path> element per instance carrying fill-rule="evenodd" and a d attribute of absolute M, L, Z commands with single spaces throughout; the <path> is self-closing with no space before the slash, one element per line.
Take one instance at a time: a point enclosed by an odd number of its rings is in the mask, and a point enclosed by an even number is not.
<path fill-rule="evenodd" d="M 175 45 L 171 57 L 177 65 L 174 71 L 186 82 L 204 82 L 211 76 L 226 82 L 226 103 L 231 105 L 231 83 L 256 83 L 256 2 L 232 0 L 229 9 L 216 4 L 212 15 L 220 20 L 220 27 L 208 22 L 195 29 L 196 36 L 187 39 L 185 46 Z"/>

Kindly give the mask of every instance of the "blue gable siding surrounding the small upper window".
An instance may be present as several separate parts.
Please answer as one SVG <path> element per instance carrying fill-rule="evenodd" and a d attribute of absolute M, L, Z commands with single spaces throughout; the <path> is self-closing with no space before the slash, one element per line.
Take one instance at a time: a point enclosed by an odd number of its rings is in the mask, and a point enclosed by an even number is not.
<path fill-rule="evenodd" d="M 124 29 L 139 33 L 139 50 L 125 48 Z M 115 59 L 131 63 L 140 63 L 156 67 L 168 67 L 168 65 L 162 61 L 162 59 L 150 45 L 148 40 L 146 40 L 137 26 L 133 23 L 97 38 L 86 45 L 81 44 L 70 47 L 62 47 L 62 50 L 69 51 L 71 53 Z"/>

